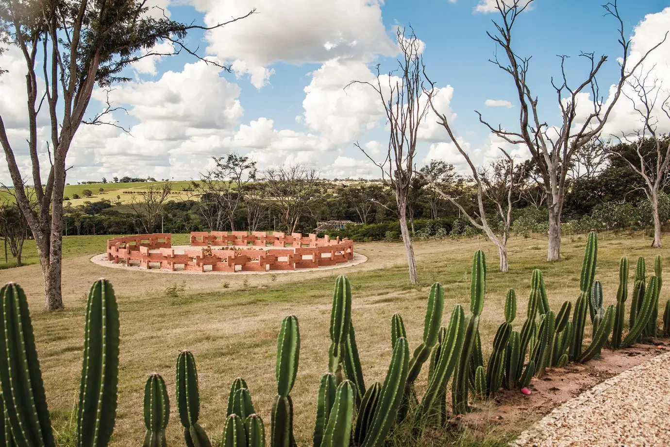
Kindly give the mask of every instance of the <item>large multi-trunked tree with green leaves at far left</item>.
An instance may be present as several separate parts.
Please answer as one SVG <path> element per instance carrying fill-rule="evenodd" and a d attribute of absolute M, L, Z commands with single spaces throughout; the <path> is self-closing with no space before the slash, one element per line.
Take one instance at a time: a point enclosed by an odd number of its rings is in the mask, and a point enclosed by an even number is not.
<path fill-rule="evenodd" d="M 25 59 L 27 152 L 37 196 L 35 209 L 31 208 L 23 188 L 23 174 L 14 152 L 17 146 L 23 147 L 23 142 L 10 142 L 1 115 L 0 145 L 5 152 L 17 202 L 35 237 L 47 310 L 63 308 L 63 191 L 70 145 L 82 123 L 116 125 L 111 114 L 118 109 L 111 105 L 103 109 L 103 113 L 86 119 L 94 86 L 109 88 L 117 82 L 131 80 L 124 76 L 123 70 L 133 62 L 152 56 L 170 56 L 182 50 L 206 64 L 230 69 L 216 60 L 198 56 L 196 50 L 188 48 L 186 38 L 193 29 L 214 29 L 243 17 L 204 27 L 180 23 L 165 14 L 152 17 L 148 12 L 147 0 L 114 0 L 111 3 L 0 0 L 0 49 L 7 45 L 17 46 Z M 254 12 L 251 10 L 244 17 Z M 174 51 L 158 51 L 156 44 L 159 42 L 171 42 Z M 40 94 L 42 82 L 44 95 Z M 50 166 L 44 170 L 48 172 L 44 182 L 40 174 L 44 160 L 40 160 L 38 151 L 45 145 L 38 137 L 38 114 L 43 105 L 50 119 L 46 142 Z"/>

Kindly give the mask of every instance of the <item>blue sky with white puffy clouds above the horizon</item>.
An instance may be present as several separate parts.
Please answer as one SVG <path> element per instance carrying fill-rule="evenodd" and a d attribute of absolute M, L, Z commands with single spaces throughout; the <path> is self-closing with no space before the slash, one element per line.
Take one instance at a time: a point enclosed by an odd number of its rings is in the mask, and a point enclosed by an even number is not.
<path fill-rule="evenodd" d="M 525 1 L 525 0 L 524 0 Z M 150 0 L 150 14 L 166 9 L 172 19 L 208 26 L 256 13 L 214 31 L 188 37 L 203 57 L 230 64 L 232 73 L 193 56 L 145 58 L 127 70 L 131 82 L 117 84 L 109 99 L 113 119 L 129 132 L 109 125 L 82 125 L 66 164 L 67 182 L 111 180 L 114 176 L 196 180 L 212 157 L 232 151 L 249 155 L 261 170 L 282 164 L 313 166 L 322 178 L 379 178 L 380 172 L 354 146 L 383 159 L 389 141 L 377 93 L 353 80 L 374 81 L 397 67 L 397 27 L 413 27 L 423 42 L 426 72 L 439 91 L 435 106 L 449 117 L 457 139 L 477 166 L 509 150 L 529 157 L 525 147 L 496 139 L 475 111 L 492 125 L 518 129 L 519 105 L 511 76 L 489 62 L 496 46 L 486 35 L 499 18 L 495 0 Z M 602 1 L 535 0 L 515 25 L 518 54 L 532 56 L 529 84 L 538 97 L 541 119 L 559 123 L 551 86 L 560 76 L 557 55 L 567 55 L 571 84 L 581 83 L 588 64 L 580 52 L 608 56 L 598 77 L 604 101 L 618 80 L 616 21 L 604 15 Z M 624 32 L 632 38 L 630 60 L 639 58 L 670 29 L 668 0 L 620 0 Z M 169 50 L 167 44 L 162 48 Z M 499 54 L 499 53 L 498 53 Z M 17 48 L 0 56 L 0 115 L 24 175 L 27 155 L 25 62 Z M 670 94 L 670 38 L 644 66 Z M 628 88 L 628 96 L 634 92 Z M 96 88 L 88 115 L 99 113 L 107 92 Z M 580 97 L 587 111 L 591 98 Z M 46 108 L 45 108 L 46 109 Z M 657 107 L 659 131 L 670 131 Z M 42 175 L 48 175 L 48 115 L 40 113 Z M 515 127 L 516 126 L 516 127 Z M 616 103 L 603 135 L 624 135 L 639 128 L 634 102 Z M 446 131 L 429 115 L 419 131 L 417 168 L 444 159 L 466 172 L 466 164 Z M 0 181 L 9 184 L 7 164 Z M 29 181 L 28 183 L 31 183 Z"/>

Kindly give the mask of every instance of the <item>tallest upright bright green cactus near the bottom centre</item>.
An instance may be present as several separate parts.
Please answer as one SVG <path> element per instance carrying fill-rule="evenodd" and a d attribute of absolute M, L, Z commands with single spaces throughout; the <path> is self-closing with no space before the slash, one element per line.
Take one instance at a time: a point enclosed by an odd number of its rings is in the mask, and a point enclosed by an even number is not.
<path fill-rule="evenodd" d="M 344 346 L 350 327 L 351 284 L 345 275 L 340 275 L 335 280 L 333 305 L 330 310 L 330 349 L 328 350 L 328 368 L 336 377 L 342 357 L 344 357 Z"/>

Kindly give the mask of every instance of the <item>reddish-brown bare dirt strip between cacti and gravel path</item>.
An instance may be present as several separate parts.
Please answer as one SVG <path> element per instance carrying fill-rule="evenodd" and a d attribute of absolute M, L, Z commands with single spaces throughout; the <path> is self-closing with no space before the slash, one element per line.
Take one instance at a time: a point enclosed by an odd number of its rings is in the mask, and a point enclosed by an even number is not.
<path fill-rule="evenodd" d="M 667 340 L 652 341 L 654 344 L 636 344 L 626 349 L 604 349 L 600 358 L 585 365 L 571 363 L 565 368 L 549 369 L 542 379 L 533 379 L 531 395 L 502 390 L 496 394 L 494 404 L 481 403 L 476 411 L 457 418 L 472 430 L 500 426 L 502 430 L 519 433 L 598 383 L 670 351 Z"/>

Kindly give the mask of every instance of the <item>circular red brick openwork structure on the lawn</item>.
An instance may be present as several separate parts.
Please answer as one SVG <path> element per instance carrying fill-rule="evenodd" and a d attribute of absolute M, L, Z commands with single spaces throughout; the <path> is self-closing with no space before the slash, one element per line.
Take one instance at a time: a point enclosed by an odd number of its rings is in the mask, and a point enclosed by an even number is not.
<path fill-rule="evenodd" d="M 159 268 L 173 271 L 176 265 L 184 265 L 184 270 L 233 272 L 309 269 L 354 259 L 350 239 L 299 233 L 287 236 L 277 231 L 194 231 L 190 245 L 182 254 L 172 248 L 170 233 L 116 237 L 107 240 L 107 260 L 126 265 L 139 261 L 143 269 L 159 264 Z"/>

